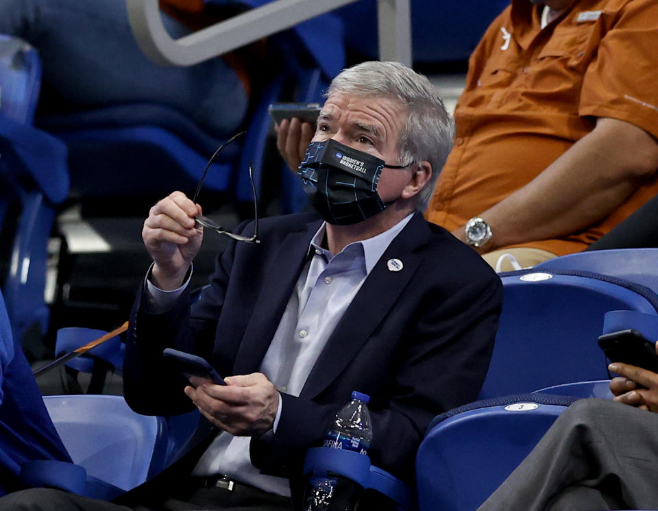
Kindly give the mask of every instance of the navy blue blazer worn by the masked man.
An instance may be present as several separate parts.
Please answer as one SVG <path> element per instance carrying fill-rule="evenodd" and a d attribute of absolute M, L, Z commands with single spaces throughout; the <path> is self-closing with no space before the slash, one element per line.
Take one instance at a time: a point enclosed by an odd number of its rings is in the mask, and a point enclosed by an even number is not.
<path fill-rule="evenodd" d="M 293 214 L 261 221 L 258 245 L 231 242 L 210 286 L 148 314 L 141 292 L 131 316 L 125 397 L 134 410 L 191 410 L 186 384 L 162 360 L 175 347 L 206 358 L 223 376 L 257 372 L 307 260 L 320 221 Z M 240 230 L 249 236 L 253 225 Z M 390 271 L 397 258 L 402 271 Z M 352 390 L 371 397 L 374 464 L 409 480 L 431 419 L 474 401 L 493 349 L 502 305 L 500 279 L 446 230 L 415 214 L 387 248 L 330 336 L 299 397 L 282 394 L 273 438 L 253 438 L 252 462 L 291 477 L 308 447 L 321 443 Z"/>

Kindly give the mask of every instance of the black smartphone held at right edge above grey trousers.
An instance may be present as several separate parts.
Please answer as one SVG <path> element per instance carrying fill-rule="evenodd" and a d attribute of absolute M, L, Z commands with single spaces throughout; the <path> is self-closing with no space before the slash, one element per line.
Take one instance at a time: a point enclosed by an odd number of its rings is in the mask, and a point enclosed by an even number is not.
<path fill-rule="evenodd" d="M 655 345 L 635 329 L 603 334 L 598 338 L 598 345 L 611 362 L 623 362 L 658 373 Z"/>

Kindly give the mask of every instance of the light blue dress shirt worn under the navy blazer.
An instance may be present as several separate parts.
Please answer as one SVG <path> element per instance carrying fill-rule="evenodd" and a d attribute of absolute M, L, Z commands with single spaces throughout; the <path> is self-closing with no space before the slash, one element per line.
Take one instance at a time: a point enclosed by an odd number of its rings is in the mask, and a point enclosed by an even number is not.
<path fill-rule="evenodd" d="M 320 226 L 308 247 L 308 254 L 313 255 L 297 279 L 295 290 L 260 365 L 260 372 L 281 392 L 300 395 L 306 378 L 345 310 L 411 216 L 413 214 L 378 236 L 350 243 L 336 255 L 322 248 L 326 224 Z M 160 310 L 171 305 L 184 286 L 180 290 L 164 292 L 147 280 L 152 303 Z M 279 399 L 275 432 L 280 414 Z M 247 436 L 232 436 L 226 432 L 217 435 L 199 459 L 193 474 L 228 474 L 236 481 L 252 484 L 269 493 L 290 495 L 288 479 L 263 475 L 252 465 L 249 441 Z"/>

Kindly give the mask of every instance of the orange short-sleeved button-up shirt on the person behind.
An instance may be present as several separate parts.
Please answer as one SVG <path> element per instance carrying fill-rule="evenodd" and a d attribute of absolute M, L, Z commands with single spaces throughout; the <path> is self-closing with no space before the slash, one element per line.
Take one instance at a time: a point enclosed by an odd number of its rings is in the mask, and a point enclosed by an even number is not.
<path fill-rule="evenodd" d="M 544 29 L 540 16 L 529 0 L 512 0 L 470 58 L 454 147 L 427 213 L 450 231 L 531 182 L 597 117 L 658 138 L 658 2 L 574 0 Z M 516 246 L 580 251 L 657 193 L 653 179 L 582 232 Z"/>

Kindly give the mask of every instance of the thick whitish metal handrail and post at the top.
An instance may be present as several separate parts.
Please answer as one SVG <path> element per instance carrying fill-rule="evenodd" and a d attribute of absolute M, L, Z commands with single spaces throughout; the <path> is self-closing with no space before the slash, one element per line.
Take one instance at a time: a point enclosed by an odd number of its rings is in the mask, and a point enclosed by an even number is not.
<path fill-rule="evenodd" d="M 127 0 L 132 32 L 154 62 L 191 66 L 358 0 L 274 0 L 180 39 L 162 26 L 158 0 Z M 380 60 L 411 66 L 411 0 L 378 0 Z"/>

